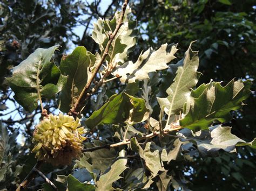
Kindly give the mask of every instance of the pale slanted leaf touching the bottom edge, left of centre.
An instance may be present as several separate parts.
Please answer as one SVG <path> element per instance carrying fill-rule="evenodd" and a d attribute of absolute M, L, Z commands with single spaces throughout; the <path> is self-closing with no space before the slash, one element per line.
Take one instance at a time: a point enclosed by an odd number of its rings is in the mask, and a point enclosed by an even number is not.
<path fill-rule="evenodd" d="M 122 178 L 121 173 L 127 168 L 127 159 L 124 157 L 117 158 L 113 162 L 111 167 L 105 171 L 103 175 L 99 177 L 99 180 L 96 182 L 96 190 L 113 190 L 112 183 Z"/>

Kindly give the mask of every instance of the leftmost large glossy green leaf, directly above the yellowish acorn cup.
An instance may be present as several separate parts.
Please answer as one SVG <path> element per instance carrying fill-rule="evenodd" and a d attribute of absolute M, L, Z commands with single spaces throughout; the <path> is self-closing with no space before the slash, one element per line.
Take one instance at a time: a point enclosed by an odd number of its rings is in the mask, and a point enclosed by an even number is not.
<path fill-rule="evenodd" d="M 15 93 L 15 100 L 25 110 L 32 112 L 41 98 L 55 99 L 62 90 L 67 76 L 51 60 L 58 46 L 38 48 L 29 57 L 14 67 L 12 77 L 6 78 Z"/>

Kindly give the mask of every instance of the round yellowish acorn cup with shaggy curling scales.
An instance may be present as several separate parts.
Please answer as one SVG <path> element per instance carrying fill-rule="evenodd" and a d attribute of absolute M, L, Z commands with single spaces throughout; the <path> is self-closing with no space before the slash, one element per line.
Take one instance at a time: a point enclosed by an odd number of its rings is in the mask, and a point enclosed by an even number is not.
<path fill-rule="evenodd" d="M 36 126 L 33 133 L 37 160 L 50 162 L 53 166 L 69 165 L 72 159 L 78 159 L 82 153 L 82 135 L 84 128 L 80 127 L 79 118 L 72 116 L 50 114 Z"/>

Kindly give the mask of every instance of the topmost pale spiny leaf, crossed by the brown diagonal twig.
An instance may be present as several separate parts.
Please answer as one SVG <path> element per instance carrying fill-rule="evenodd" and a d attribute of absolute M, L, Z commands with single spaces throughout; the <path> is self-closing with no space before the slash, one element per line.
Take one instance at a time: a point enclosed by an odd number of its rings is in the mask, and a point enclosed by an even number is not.
<path fill-rule="evenodd" d="M 103 20 L 99 18 L 94 24 L 92 38 L 99 45 L 103 53 L 109 40 L 109 36 L 116 29 L 119 19 L 119 12 L 116 12 L 112 20 Z M 106 57 L 108 62 L 122 64 L 127 60 L 130 48 L 136 44 L 138 30 L 135 29 L 137 23 L 131 20 L 131 9 L 127 8 L 124 14 L 123 25 L 120 27 L 116 37 L 109 48 L 109 54 Z"/>

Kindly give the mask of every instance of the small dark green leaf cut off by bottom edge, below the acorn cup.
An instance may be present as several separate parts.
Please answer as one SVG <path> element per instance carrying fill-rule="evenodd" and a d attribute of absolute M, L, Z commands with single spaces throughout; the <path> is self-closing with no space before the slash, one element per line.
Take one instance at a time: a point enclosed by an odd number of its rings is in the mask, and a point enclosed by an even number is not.
<path fill-rule="evenodd" d="M 68 175 L 68 178 L 66 179 L 68 181 L 68 189 L 69 190 L 76 190 L 76 191 L 92 191 L 95 190 L 93 185 L 90 185 L 88 183 L 82 183 L 79 180 L 77 180 L 74 176 L 71 174 Z"/>

